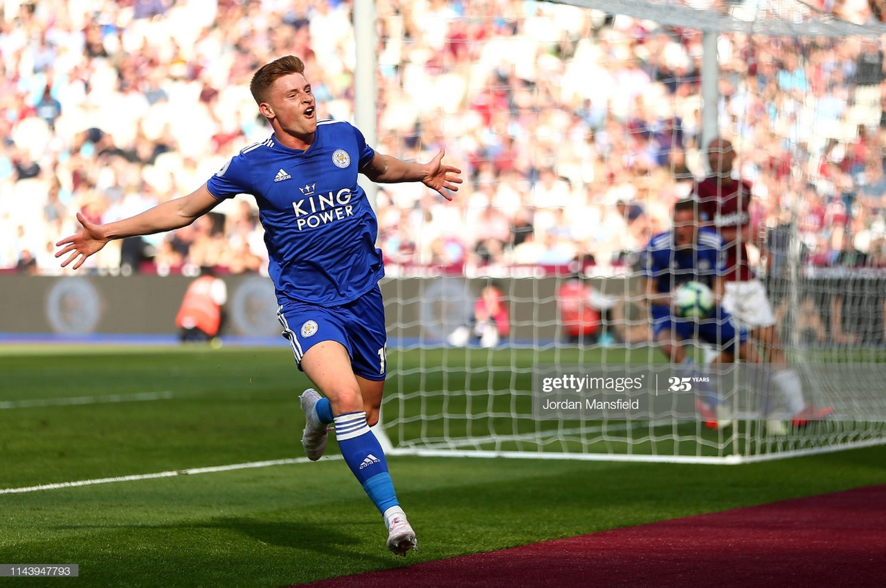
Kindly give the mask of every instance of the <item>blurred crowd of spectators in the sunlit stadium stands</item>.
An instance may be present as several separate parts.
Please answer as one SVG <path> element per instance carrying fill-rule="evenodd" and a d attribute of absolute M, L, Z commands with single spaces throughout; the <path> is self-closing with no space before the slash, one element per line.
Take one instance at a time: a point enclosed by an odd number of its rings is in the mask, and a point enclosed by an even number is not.
<path fill-rule="evenodd" d="M 699 31 L 524 0 L 376 4 L 378 150 L 427 160 L 445 148 L 467 180 L 453 203 L 381 186 L 392 267 L 587 259 L 604 274 L 666 228 L 705 173 Z M 820 8 L 865 23 L 878 5 Z M 53 244 L 74 232 L 75 213 L 138 213 L 267 138 L 248 86 L 272 58 L 305 60 L 318 118 L 354 116 L 353 2 L 2 8 L 0 271 L 61 273 Z M 795 218 L 805 263 L 886 267 L 882 45 L 721 35 L 719 62 L 719 128 L 753 182 L 775 267 Z M 124 274 L 266 266 L 256 207 L 240 198 L 89 259 L 90 271 Z"/>

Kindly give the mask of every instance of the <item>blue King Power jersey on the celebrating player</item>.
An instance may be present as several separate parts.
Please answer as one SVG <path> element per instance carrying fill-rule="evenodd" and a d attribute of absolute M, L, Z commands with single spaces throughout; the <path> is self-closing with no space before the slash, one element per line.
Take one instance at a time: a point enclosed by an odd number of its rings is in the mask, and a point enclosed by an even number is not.
<path fill-rule="evenodd" d="M 279 304 L 342 305 L 385 274 L 376 213 L 357 183 L 374 156 L 353 125 L 320 120 L 307 150 L 284 147 L 271 135 L 206 183 L 217 198 L 255 197 Z"/>

